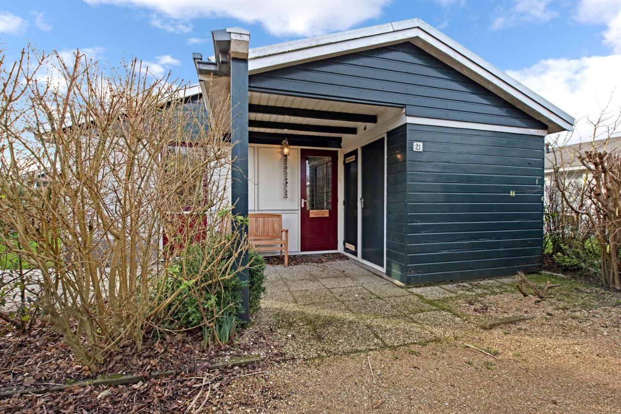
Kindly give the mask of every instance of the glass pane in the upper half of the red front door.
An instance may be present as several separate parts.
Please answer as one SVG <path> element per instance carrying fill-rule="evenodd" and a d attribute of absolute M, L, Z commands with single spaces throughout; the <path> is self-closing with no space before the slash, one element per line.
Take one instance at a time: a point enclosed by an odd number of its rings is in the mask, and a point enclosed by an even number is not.
<path fill-rule="evenodd" d="M 332 157 L 306 157 L 306 197 L 309 210 L 332 209 Z"/>

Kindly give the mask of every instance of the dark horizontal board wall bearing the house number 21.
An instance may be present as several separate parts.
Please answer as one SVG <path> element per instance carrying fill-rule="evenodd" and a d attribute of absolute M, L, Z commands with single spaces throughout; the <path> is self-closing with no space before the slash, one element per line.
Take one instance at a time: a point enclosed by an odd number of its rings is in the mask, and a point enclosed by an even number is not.
<path fill-rule="evenodd" d="M 540 266 L 543 137 L 408 124 L 406 192 L 408 284 Z"/>

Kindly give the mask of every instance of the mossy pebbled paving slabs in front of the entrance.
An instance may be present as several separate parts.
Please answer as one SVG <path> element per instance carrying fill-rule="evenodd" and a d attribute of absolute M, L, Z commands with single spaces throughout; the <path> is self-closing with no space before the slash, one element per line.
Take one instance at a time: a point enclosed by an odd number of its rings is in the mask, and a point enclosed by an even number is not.
<path fill-rule="evenodd" d="M 405 289 L 349 259 L 268 265 L 254 322 L 283 335 L 301 358 L 347 354 L 455 336 L 473 328 L 454 299 L 515 290 L 513 277 Z"/>

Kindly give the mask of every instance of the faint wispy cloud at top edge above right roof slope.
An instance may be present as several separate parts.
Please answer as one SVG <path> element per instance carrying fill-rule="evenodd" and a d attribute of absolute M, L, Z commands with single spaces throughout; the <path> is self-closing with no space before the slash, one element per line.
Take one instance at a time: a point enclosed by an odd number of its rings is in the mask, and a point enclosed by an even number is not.
<path fill-rule="evenodd" d="M 513 27 L 522 23 L 548 22 L 558 16 L 558 12 L 551 10 L 551 0 L 513 0 L 513 6 L 501 4 L 494 12 L 492 30 Z"/>

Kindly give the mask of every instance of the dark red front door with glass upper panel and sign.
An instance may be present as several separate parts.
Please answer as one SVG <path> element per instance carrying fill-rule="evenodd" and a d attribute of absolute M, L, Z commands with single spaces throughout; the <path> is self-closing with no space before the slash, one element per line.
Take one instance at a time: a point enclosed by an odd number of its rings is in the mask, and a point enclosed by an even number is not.
<path fill-rule="evenodd" d="M 300 150 L 301 251 L 337 250 L 337 151 Z"/>

